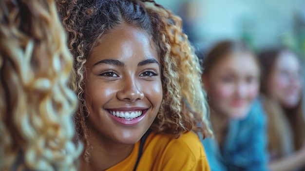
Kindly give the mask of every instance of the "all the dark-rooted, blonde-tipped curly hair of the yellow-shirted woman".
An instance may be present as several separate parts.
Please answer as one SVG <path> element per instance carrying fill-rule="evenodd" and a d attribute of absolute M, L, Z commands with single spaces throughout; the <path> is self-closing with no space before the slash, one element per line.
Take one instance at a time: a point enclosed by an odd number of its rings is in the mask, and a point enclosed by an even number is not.
<path fill-rule="evenodd" d="M 123 24 L 146 31 L 156 44 L 161 61 L 163 100 L 151 129 L 178 138 L 182 133 L 201 132 L 210 136 L 208 108 L 201 83 L 201 67 L 188 38 L 182 33 L 182 20 L 153 0 L 57 0 L 57 10 L 68 34 L 74 55 L 76 132 L 90 148 L 85 118 L 89 112 L 83 98 L 84 64 L 101 42 L 101 37 Z M 85 159 L 89 151 L 84 152 Z"/>

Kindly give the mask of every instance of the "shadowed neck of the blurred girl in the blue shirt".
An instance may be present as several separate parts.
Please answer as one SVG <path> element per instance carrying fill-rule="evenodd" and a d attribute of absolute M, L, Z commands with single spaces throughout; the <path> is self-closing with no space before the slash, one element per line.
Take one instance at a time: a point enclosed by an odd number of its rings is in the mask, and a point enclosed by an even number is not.
<path fill-rule="evenodd" d="M 227 135 L 229 117 L 211 110 L 210 120 L 218 145 L 221 145 Z"/>

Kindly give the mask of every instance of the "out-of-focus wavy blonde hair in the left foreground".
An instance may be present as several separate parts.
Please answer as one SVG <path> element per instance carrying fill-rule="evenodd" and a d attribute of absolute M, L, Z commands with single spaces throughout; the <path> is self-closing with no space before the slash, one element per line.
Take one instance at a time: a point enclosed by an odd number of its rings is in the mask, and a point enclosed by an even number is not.
<path fill-rule="evenodd" d="M 53 0 L 0 1 L 0 170 L 76 171 L 72 58 Z"/>

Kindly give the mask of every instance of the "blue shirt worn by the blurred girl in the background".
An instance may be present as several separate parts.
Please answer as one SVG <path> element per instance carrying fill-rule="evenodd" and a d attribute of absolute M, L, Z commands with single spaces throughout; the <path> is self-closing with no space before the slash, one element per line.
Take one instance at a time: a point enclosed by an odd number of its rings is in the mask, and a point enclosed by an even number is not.
<path fill-rule="evenodd" d="M 255 100 L 244 119 L 231 119 L 224 143 L 202 140 L 211 171 L 267 171 L 266 114 Z"/>

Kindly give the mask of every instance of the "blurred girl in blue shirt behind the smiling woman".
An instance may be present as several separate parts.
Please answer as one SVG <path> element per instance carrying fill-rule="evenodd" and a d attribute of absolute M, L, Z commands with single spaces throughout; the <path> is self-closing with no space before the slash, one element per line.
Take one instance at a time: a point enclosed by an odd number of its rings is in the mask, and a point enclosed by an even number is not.
<path fill-rule="evenodd" d="M 265 114 L 256 99 L 260 68 L 240 41 L 222 41 L 204 58 L 202 81 L 208 93 L 214 139 L 203 144 L 212 171 L 265 171 Z"/>

